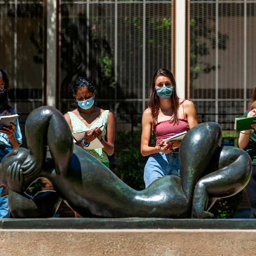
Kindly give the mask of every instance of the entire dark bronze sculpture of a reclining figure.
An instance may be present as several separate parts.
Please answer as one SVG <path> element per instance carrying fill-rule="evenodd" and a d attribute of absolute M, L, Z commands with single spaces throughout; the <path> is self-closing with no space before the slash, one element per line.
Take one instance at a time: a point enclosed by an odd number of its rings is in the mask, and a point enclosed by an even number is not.
<path fill-rule="evenodd" d="M 29 115 L 26 138 L 28 150 L 13 150 L 0 165 L 2 196 L 9 195 L 14 218 L 52 217 L 61 200 L 83 217 L 213 218 L 207 210 L 216 199 L 237 194 L 251 175 L 247 153 L 219 146 L 222 133 L 214 122 L 195 126 L 183 139 L 181 178 L 165 176 L 141 191 L 74 146 L 69 126 L 55 108 L 44 106 Z M 56 191 L 31 198 L 24 191 L 40 177 Z"/>

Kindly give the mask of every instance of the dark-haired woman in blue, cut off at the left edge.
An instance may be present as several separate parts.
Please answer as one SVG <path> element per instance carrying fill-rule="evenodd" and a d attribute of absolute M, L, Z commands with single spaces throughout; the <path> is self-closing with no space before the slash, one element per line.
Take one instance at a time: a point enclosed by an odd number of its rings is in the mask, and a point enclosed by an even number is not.
<path fill-rule="evenodd" d="M 10 82 L 7 74 L 0 69 L 0 116 L 9 116 L 17 114 L 8 104 L 8 91 L 10 90 Z M 0 163 L 2 159 L 14 148 L 18 148 L 22 144 L 22 133 L 17 121 L 11 124 L 11 127 L 4 127 L 0 130 Z M 0 188 L 0 193 L 3 188 Z M 8 196 L 0 198 L 0 218 L 10 218 L 10 210 L 8 206 Z"/>

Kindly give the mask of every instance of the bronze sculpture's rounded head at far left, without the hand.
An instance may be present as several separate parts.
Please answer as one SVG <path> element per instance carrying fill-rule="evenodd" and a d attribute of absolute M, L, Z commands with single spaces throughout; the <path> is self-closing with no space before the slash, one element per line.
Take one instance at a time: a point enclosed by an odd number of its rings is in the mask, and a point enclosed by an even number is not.
<path fill-rule="evenodd" d="M 16 148 L 7 154 L 0 164 L 0 187 L 4 188 L 1 193 L 1 197 L 8 195 L 9 187 L 7 183 L 7 169 L 14 162 L 20 164 L 20 167 L 23 169 L 25 179 L 26 177 L 30 177 L 31 173 L 34 172 L 35 161 L 26 148 Z"/>

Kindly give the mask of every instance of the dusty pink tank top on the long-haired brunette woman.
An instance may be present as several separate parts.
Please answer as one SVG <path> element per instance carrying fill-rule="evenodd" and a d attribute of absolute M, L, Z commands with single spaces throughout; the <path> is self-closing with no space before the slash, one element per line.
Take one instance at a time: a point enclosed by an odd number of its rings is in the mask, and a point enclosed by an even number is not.
<path fill-rule="evenodd" d="M 172 137 L 176 134 L 189 131 L 188 121 L 187 119 L 185 119 L 183 102 L 182 102 L 182 108 L 183 108 L 184 118 L 179 118 L 178 124 L 175 124 L 174 122 L 170 123 L 170 120 L 165 120 L 165 121 L 157 122 L 156 124 L 153 125 L 152 133 L 154 131 L 156 134 L 156 146 L 158 146 L 162 142 L 162 140 L 166 140 L 167 138 Z"/>

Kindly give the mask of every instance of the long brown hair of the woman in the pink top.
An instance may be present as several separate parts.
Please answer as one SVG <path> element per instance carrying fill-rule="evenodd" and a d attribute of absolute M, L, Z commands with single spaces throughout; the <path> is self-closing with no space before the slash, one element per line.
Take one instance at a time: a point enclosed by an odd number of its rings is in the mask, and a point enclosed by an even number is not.
<path fill-rule="evenodd" d="M 148 108 L 151 109 L 151 116 L 152 116 L 153 124 L 156 123 L 156 111 L 159 106 L 159 96 L 157 95 L 156 88 L 155 88 L 155 82 L 159 76 L 167 76 L 170 79 L 170 81 L 172 82 L 172 85 L 174 87 L 173 94 L 169 98 L 171 108 L 173 110 L 173 116 L 170 119 L 170 122 L 174 122 L 175 124 L 178 124 L 179 123 L 179 119 L 178 119 L 179 97 L 178 97 L 177 91 L 176 91 L 176 81 L 174 79 L 174 75 L 172 74 L 172 72 L 170 72 L 167 69 L 159 69 L 153 75 L 153 78 L 152 78 L 152 83 L 151 83 L 151 88 L 150 88 L 150 98 L 147 102 L 147 106 L 148 106 Z"/>

